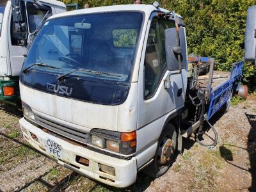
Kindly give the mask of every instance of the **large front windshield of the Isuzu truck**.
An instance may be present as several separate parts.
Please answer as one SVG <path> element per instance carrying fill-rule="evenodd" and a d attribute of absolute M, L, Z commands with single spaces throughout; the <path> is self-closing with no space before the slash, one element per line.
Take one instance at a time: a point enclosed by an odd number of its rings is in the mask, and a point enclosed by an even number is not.
<path fill-rule="evenodd" d="M 24 62 L 56 68 L 51 73 L 129 82 L 143 14 L 111 12 L 77 15 L 45 22 Z M 70 74 L 71 75 L 71 74 Z"/>

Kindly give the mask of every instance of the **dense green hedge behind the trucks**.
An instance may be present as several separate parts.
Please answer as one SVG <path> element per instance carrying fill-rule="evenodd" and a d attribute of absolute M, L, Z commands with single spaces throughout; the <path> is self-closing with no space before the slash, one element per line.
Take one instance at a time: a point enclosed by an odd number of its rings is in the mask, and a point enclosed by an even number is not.
<path fill-rule="evenodd" d="M 155 0 L 142 0 L 152 4 Z M 132 4 L 133 0 L 63 0 L 94 6 Z M 187 25 L 188 52 L 214 57 L 219 70 L 229 70 L 232 63 L 244 56 L 244 31 L 248 6 L 256 0 L 159 0 L 161 7 L 175 10 Z M 244 83 L 256 87 L 256 68 L 252 63 L 244 66 Z"/>

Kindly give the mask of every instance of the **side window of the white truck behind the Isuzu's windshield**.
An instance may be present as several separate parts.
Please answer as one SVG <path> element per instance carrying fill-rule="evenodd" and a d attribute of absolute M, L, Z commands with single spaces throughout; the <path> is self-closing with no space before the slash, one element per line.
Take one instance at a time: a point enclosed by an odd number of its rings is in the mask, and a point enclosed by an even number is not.
<path fill-rule="evenodd" d="M 44 8 L 40 9 L 39 7 L 36 8 L 36 6 L 30 2 L 27 3 L 27 12 L 30 33 L 33 33 L 36 28 L 38 28 L 43 19 L 46 20 L 52 15 L 52 10 L 50 6 L 44 5 Z"/>

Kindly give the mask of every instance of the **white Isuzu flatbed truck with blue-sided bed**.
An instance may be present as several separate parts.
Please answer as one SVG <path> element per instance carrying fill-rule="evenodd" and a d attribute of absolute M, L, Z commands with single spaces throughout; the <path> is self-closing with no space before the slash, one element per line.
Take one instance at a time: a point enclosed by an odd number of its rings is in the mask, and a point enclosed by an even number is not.
<path fill-rule="evenodd" d="M 131 185 L 141 170 L 163 175 L 182 136 L 203 145 L 204 121 L 244 91 L 243 61 L 217 72 L 214 58 L 188 58 L 186 46 L 182 17 L 158 3 L 50 17 L 20 73 L 24 138 L 111 186 Z"/>

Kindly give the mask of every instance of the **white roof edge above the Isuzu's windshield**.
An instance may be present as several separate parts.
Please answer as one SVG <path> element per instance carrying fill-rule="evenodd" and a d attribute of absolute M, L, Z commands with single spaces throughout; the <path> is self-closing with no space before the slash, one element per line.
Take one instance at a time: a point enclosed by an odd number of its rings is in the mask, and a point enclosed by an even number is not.
<path fill-rule="evenodd" d="M 46 1 L 46 0 L 44 0 Z M 50 1 L 50 0 L 48 0 Z M 55 19 L 58 17 L 65 17 L 65 16 L 74 16 L 74 15 L 81 15 L 86 13 L 100 13 L 100 12 L 120 12 L 120 11 L 137 11 L 137 12 L 144 12 L 147 15 L 150 15 L 154 11 L 161 11 L 161 12 L 169 12 L 163 8 L 157 8 L 151 4 L 122 4 L 122 5 L 113 5 L 113 6 L 100 6 L 95 8 L 86 8 L 81 10 L 74 10 L 70 12 L 63 12 L 57 15 L 52 15 L 49 19 Z M 178 17 L 182 18 L 180 15 L 177 14 Z"/>

